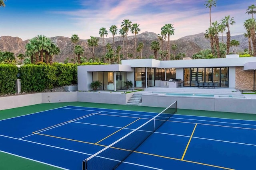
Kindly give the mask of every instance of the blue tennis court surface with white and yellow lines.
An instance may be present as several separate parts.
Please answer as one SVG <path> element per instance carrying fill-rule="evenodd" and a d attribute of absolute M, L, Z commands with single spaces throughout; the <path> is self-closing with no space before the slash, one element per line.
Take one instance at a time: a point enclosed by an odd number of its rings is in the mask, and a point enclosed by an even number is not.
<path fill-rule="evenodd" d="M 61 169 L 82 170 L 84 159 L 157 114 L 66 106 L 4 119 L 0 151 Z M 256 121 L 177 113 L 116 169 L 250 170 L 255 169 L 255 160 Z"/>

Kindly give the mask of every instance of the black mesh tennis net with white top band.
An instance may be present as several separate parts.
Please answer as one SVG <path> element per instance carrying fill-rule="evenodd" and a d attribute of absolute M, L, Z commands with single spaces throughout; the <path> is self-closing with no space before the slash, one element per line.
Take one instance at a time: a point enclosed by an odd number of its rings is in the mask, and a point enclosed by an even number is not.
<path fill-rule="evenodd" d="M 121 164 L 136 150 L 154 131 L 177 111 L 177 101 L 158 113 L 155 117 L 134 129 L 124 137 L 85 159 L 83 170 L 112 170 Z"/>

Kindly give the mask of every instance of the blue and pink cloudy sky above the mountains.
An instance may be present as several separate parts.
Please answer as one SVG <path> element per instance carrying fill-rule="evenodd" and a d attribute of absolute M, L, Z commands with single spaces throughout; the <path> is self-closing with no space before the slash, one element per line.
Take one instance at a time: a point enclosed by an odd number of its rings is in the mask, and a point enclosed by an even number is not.
<path fill-rule="evenodd" d="M 173 24 L 170 40 L 205 32 L 210 26 L 209 8 L 205 0 L 6 0 L 0 7 L 0 36 L 32 39 L 71 37 L 80 39 L 100 37 L 99 29 L 111 25 L 121 28 L 123 20 L 138 23 L 140 32 L 160 33 L 161 27 Z M 230 15 L 236 22 L 230 26 L 231 35 L 245 32 L 244 21 L 248 6 L 255 0 L 217 0 L 211 18 L 221 22 Z M 128 33 L 128 36 L 132 33 Z M 107 37 L 112 37 L 109 32 Z"/>

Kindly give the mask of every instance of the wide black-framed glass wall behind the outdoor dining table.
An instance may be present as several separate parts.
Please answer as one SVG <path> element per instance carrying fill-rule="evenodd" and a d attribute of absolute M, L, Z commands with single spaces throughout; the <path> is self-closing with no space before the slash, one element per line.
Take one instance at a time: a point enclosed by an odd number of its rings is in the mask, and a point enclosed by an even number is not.
<path fill-rule="evenodd" d="M 194 87 L 196 82 L 218 82 L 228 87 L 228 67 L 184 68 L 184 86 Z"/>

